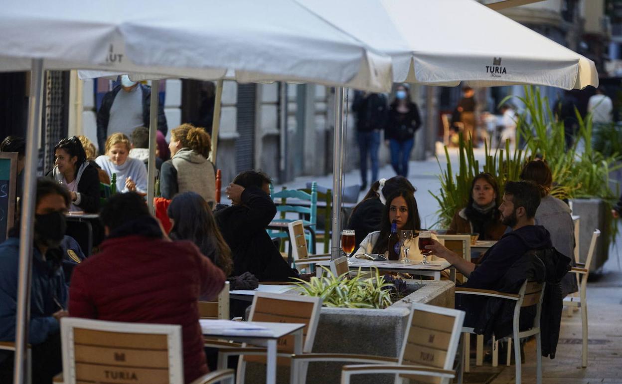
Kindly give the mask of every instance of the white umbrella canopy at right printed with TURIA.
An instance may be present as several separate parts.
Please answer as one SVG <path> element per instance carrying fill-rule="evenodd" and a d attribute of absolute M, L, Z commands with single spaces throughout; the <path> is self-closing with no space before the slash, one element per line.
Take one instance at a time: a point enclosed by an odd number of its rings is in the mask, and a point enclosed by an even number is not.
<path fill-rule="evenodd" d="M 598 87 L 592 60 L 474 0 L 297 1 L 390 55 L 394 82 Z"/>

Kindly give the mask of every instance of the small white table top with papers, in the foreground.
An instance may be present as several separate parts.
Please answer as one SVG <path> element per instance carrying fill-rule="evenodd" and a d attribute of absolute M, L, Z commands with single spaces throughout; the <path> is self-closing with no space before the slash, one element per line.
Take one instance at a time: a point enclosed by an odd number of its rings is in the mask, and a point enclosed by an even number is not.
<path fill-rule="evenodd" d="M 205 336 L 279 339 L 305 324 L 262 321 L 199 320 Z"/>

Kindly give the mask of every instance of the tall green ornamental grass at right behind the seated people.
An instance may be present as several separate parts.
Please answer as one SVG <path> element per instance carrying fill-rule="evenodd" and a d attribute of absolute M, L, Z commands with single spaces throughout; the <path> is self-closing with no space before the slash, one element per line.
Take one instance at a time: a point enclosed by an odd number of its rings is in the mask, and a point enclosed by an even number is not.
<path fill-rule="evenodd" d="M 601 145 L 602 136 L 607 134 L 606 138 L 613 139 L 613 133 L 611 131 L 599 133 L 596 130 L 596 135 L 593 136 L 592 115 L 588 113 L 583 119 L 575 109 L 578 131 L 573 146 L 567 149 L 564 123 L 555 119 L 549 100 L 541 96 L 538 88 L 525 87 L 524 93 L 522 97 L 508 96 L 500 103 L 503 105 L 509 98 L 517 98 L 524 106 L 524 111 L 517 116 L 516 121 L 517 141 L 524 144 L 522 149 L 517 146 L 510 151 L 509 141 L 506 141 L 504 150 L 498 149 L 493 152 L 485 143 L 485 161 L 480 164 L 475 159 L 473 143 L 460 138 L 458 169 L 454 174 L 454 167 L 445 146 L 447 171 L 443 171 L 439 162 L 441 189 L 437 194 L 429 191 L 439 202 L 440 208 L 437 211 L 439 227 L 449 227 L 455 212 L 466 206 L 471 193 L 471 180 L 476 174 L 480 172 L 492 174 L 499 185 L 499 193 L 503 194 L 505 183 L 508 180 L 518 180 L 524 164 L 536 157 L 542 157 L 549 164 L 554 181 L 550 191 L 552 196 L 562 200 L 598 198 L 605 202 L 606 212 L 609 212 L 615 204 L 618 196 L 616 191 L 610 188 L 609 174 L 622 167 L 620 164 L 622 157 L 618 152 L 618 146 L 613 144 L 611 148 L 614 149 L 600 151 L 606 148 Z M 596 138 L 595 143 L 593 137 Z M 581 150 L 577 148 L 578 143 L 584 144 Z M 609 243 L 615 240 L 618 230 L 610 215 L 606 216 L 606 220 L 609 232 L 606 241 Z"/>

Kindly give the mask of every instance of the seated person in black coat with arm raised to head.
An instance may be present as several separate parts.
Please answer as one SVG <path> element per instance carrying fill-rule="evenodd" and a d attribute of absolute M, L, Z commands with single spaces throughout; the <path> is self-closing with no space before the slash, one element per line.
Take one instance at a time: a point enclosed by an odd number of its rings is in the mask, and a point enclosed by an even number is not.
<path fill-rule="evenodd" d="M 290 281 L 298 273 L 283 260 L 266 232 L 276 215 L 270 181 L 263 172 L 241 172 L 226 189 L 233 205 L 217 207 L 214 214 L 233 253 L 233 276 L 250 272 L 259 281 Z"/>

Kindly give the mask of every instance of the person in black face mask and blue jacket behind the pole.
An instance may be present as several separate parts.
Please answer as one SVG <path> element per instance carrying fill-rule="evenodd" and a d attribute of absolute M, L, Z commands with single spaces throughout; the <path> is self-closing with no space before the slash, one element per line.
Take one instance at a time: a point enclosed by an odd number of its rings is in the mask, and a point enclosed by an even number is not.
<path fill-rule="evenodd" d="M 37 180 L 30 288 L 29 344 L 32 384 L 50 384 L 62 370 L 59 320 L 67 316 L 67 286 L 61 268 L 69 192 L 54 180 Z M 19 223 L 0 244 L 0 341 L 15 340 Z M 0 351 L 0 383 L 11 383 L 13 352 Z"/>

